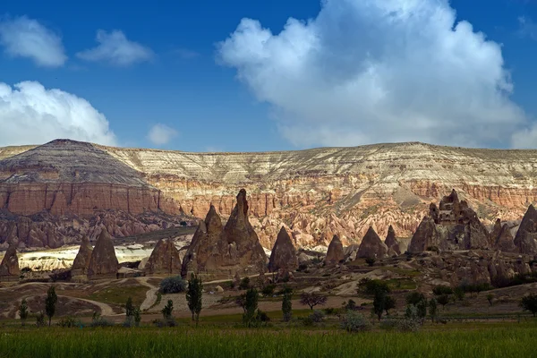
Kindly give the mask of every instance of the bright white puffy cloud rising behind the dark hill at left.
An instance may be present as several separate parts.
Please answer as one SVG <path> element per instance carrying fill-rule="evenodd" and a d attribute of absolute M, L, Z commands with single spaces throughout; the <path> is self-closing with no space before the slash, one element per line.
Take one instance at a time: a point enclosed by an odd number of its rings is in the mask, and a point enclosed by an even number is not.
<path fill-rule="evenodd" d="M 35 81 L 13 88 L 0 82 L 0 146 L 41 144 L 58 138 L 115 145 L 107 118 L 90 103 Z"/>

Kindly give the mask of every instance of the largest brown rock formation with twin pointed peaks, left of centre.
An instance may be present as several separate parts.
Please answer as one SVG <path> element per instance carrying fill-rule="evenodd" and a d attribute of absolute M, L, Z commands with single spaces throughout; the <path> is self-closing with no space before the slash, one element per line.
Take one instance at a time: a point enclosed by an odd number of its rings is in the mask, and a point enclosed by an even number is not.
<path fill-rule="evenodd" d="M 224 228 L 216 209 L 210 207 L 184 256 L 183 276 L 188 276 L 189 272 L 215 277 L 265 272 L 267 255 L 248 220 L 246 191 L 242 189 L 236 200 Z"/>

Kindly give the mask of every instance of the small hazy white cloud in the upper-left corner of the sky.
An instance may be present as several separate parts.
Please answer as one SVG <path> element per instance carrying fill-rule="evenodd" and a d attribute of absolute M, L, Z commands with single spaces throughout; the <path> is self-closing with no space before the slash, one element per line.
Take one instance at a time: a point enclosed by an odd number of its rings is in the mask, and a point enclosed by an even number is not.
<path fill-rule="evenodd" d="M 0 43 L 6 54 L 28 57 L 39 66 L 58 67 L 67 61 L 62 38 L 26 16 L 0 21 Z"/>

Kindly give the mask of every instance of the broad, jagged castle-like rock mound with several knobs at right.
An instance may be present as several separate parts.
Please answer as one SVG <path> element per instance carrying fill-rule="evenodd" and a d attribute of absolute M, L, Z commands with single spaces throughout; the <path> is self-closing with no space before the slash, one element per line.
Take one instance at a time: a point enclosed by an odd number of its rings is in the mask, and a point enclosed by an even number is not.
<path fill-rule="evenodd" d="M 430 204 L 428 217 L 413 234 L 409 251 L 456 251 L 492 249 L 494 243 L 482 221 L 465 200 L 458 200 L 453 190 L 440 200 L 439 207 Z"/>

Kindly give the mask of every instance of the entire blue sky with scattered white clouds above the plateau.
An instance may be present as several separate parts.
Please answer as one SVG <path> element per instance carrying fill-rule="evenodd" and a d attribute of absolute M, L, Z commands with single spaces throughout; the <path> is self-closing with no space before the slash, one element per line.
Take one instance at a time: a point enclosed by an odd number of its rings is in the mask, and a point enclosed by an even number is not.
<path fill-rule="evenodd" d="M 531 0 L 9 3 L 0 145 L 537 144 Z"/>

